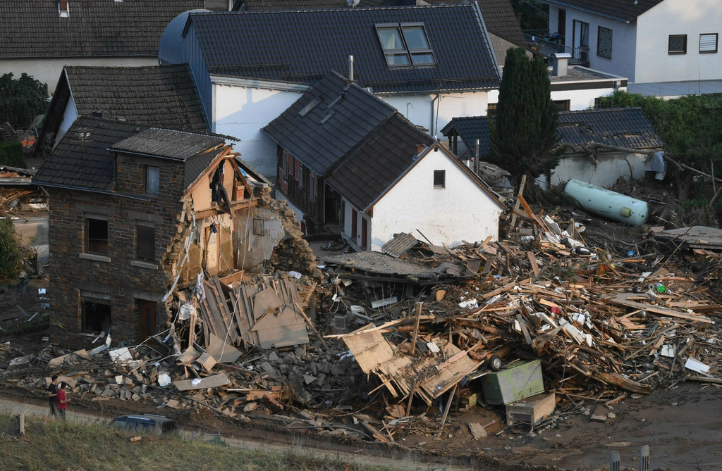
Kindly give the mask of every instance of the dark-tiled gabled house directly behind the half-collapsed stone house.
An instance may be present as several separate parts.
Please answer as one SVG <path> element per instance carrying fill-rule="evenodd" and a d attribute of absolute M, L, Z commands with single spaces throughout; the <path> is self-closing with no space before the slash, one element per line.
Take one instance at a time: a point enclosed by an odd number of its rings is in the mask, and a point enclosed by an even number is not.
<path fill-rule="evenodd" d="M 178 131 L 209 131 L 187 64 L 64 66 L 36 151 L 49 153 L 78 116 L 97 115 Z"/>

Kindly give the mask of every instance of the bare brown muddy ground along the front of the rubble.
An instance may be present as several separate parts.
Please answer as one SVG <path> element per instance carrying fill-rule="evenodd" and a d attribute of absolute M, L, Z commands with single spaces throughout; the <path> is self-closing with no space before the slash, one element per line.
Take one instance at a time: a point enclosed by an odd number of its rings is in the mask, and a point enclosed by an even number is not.
<path fill-rule="evenodd" d="M 17 309 L 20 305 L 28 314 L 43 313 L 38 299 L 38 287 L 47 281 L 32 280 L 26 294 L 19 289 L 0 293 L 2 309 Z M 17 321 L 3 322 L 8 328 Z M 1 334 L 2 332 L 0 332 Z M 39 330 L 20 335 L 3 335 L 2 343 L 10 342 L 25 354 L 35 353 L 43 346 L 47 331 Z M 52 374 L 37 369 L 32 374 Z M 6 382 L 17 377 L 12 370 L 0 377 L 0 396 L 5 399 L 44 405 L 44 392 L 22 389 Z M 529 426 L 506 428 L 503 411 L 498 408 L 473 407 L 466 413 L 451 413 L 446 433 L 409 435 L 396 439 L 391 445 L 367 443 L 357 439 L 334 439 L 331 436 L 303 430 L 290 430 L 274 421 L 273 415 L 249 414 L 251 423 L 240 425 L 211 410 L 159 410 L 153 402 L 121 400 L 90 400 L 77 397 L 72 403 L 76 410 L 103 415 L 106 418 L 124 413 L 164 413 L 176 418 L 182 426 L 206 432 L 220 429 L 222 435 L 232 438 L 256 440 L 262 443 L 308 444 L 321 449 L 352 453 L 373 454 L 379 457 L 413 457 L 414 466 L 470 467 L 473 469 L 609 469 L 609 453 L 619 451 L 623 467 L 638 465 L 636 457 L 642 445 L 651 449 L 652 469 L 718 470 L 722 466 L 722 391 L 719 386 L 700 383 L 683 383 L 672 389 L 658 390 L 652 395 L 627 397 L 612 405 L 614 417 L 606 423 L 591 421 L 588 413 L 595 404 L 578 400 L 557 407 L 556 426 L 531 431 Z M 418 408 L 415 413 L 422 413 Z M 435 408 L 427 415 L 438 415 Z M 497 423 L 487 428 L 487 439 L 474 441 L 468 423 Z M 497 433 L 499 433 L 497 435 Z"/>

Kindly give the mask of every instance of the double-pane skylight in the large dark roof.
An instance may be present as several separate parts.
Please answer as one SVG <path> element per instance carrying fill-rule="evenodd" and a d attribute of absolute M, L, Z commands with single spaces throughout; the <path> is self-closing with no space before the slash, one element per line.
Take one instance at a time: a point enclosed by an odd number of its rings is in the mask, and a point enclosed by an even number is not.
<path fill-rule="evenodd" d="M 376 32 L 389 67 L 435 64 L 423 23 L 376 25 Z"/>

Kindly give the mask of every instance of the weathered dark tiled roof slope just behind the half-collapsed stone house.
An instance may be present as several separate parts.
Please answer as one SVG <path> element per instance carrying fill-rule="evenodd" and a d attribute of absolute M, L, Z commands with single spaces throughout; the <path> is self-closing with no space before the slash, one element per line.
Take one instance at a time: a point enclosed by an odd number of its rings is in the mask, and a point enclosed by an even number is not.
<path fill-rule="evenodd" d="M 208 131 L 201 98 L 186 64 L 66 66 L 65 71 L 79 115 L 103 111 L 147 126 Z"/>

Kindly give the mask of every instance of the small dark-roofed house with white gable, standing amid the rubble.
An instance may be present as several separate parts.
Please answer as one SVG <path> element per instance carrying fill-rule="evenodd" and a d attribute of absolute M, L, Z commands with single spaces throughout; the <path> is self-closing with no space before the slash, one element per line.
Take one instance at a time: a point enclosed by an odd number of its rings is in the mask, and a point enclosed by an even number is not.
<path fill-rule="evenodd" d="M 264 128 L 278 144 L 277 193 L 309 232 L 380 250 L 398 232 L 433 243 L 497 237 L 503 205 L 391 105 L 331 73 Z"/>

